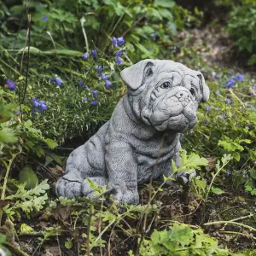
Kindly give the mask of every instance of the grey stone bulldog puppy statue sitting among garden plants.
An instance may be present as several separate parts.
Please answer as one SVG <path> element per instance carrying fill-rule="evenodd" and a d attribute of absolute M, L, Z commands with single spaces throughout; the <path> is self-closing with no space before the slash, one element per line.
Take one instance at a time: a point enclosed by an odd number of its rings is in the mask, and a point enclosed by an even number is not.
<path fill-rule="evenodd" d="M 137 184 L 151 175 L 169 177 L 172 160 L 179 165 L 179 133 L 195 126 L 196 110 L 209 98 L 203 75 L 178 62 L 150 59 L 120 74 L 128 92 L 111 119 L 70 154 L 55 185 L 58 196 L 94 198 L 89 177 L 113 189 L 121 203 L 138 204 Z"/>

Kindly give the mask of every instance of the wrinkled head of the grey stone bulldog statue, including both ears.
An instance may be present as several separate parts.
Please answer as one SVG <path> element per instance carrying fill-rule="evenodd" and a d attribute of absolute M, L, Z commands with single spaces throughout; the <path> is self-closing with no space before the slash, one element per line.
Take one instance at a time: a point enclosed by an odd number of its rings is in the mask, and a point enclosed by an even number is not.
<path fill-rule="evenodd" d="M 193 128 L 200 102 L 209 97 L 202 74 L 174 61 L 140 61 L 121 76 L 137 118 L 158 131 Z"/>

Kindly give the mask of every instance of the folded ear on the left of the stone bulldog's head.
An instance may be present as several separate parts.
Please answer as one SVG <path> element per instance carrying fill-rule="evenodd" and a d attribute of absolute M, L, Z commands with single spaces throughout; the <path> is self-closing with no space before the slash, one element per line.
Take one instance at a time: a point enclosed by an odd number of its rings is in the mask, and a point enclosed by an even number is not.
<path fill-rule="evenodd" d="M 146 59 L 139 61 L 131 67 L 126 67 L 120 73 L 121 78 L 131 90 L 137 90 L 145 81 L 153 75 L 154 61 Z"/>

